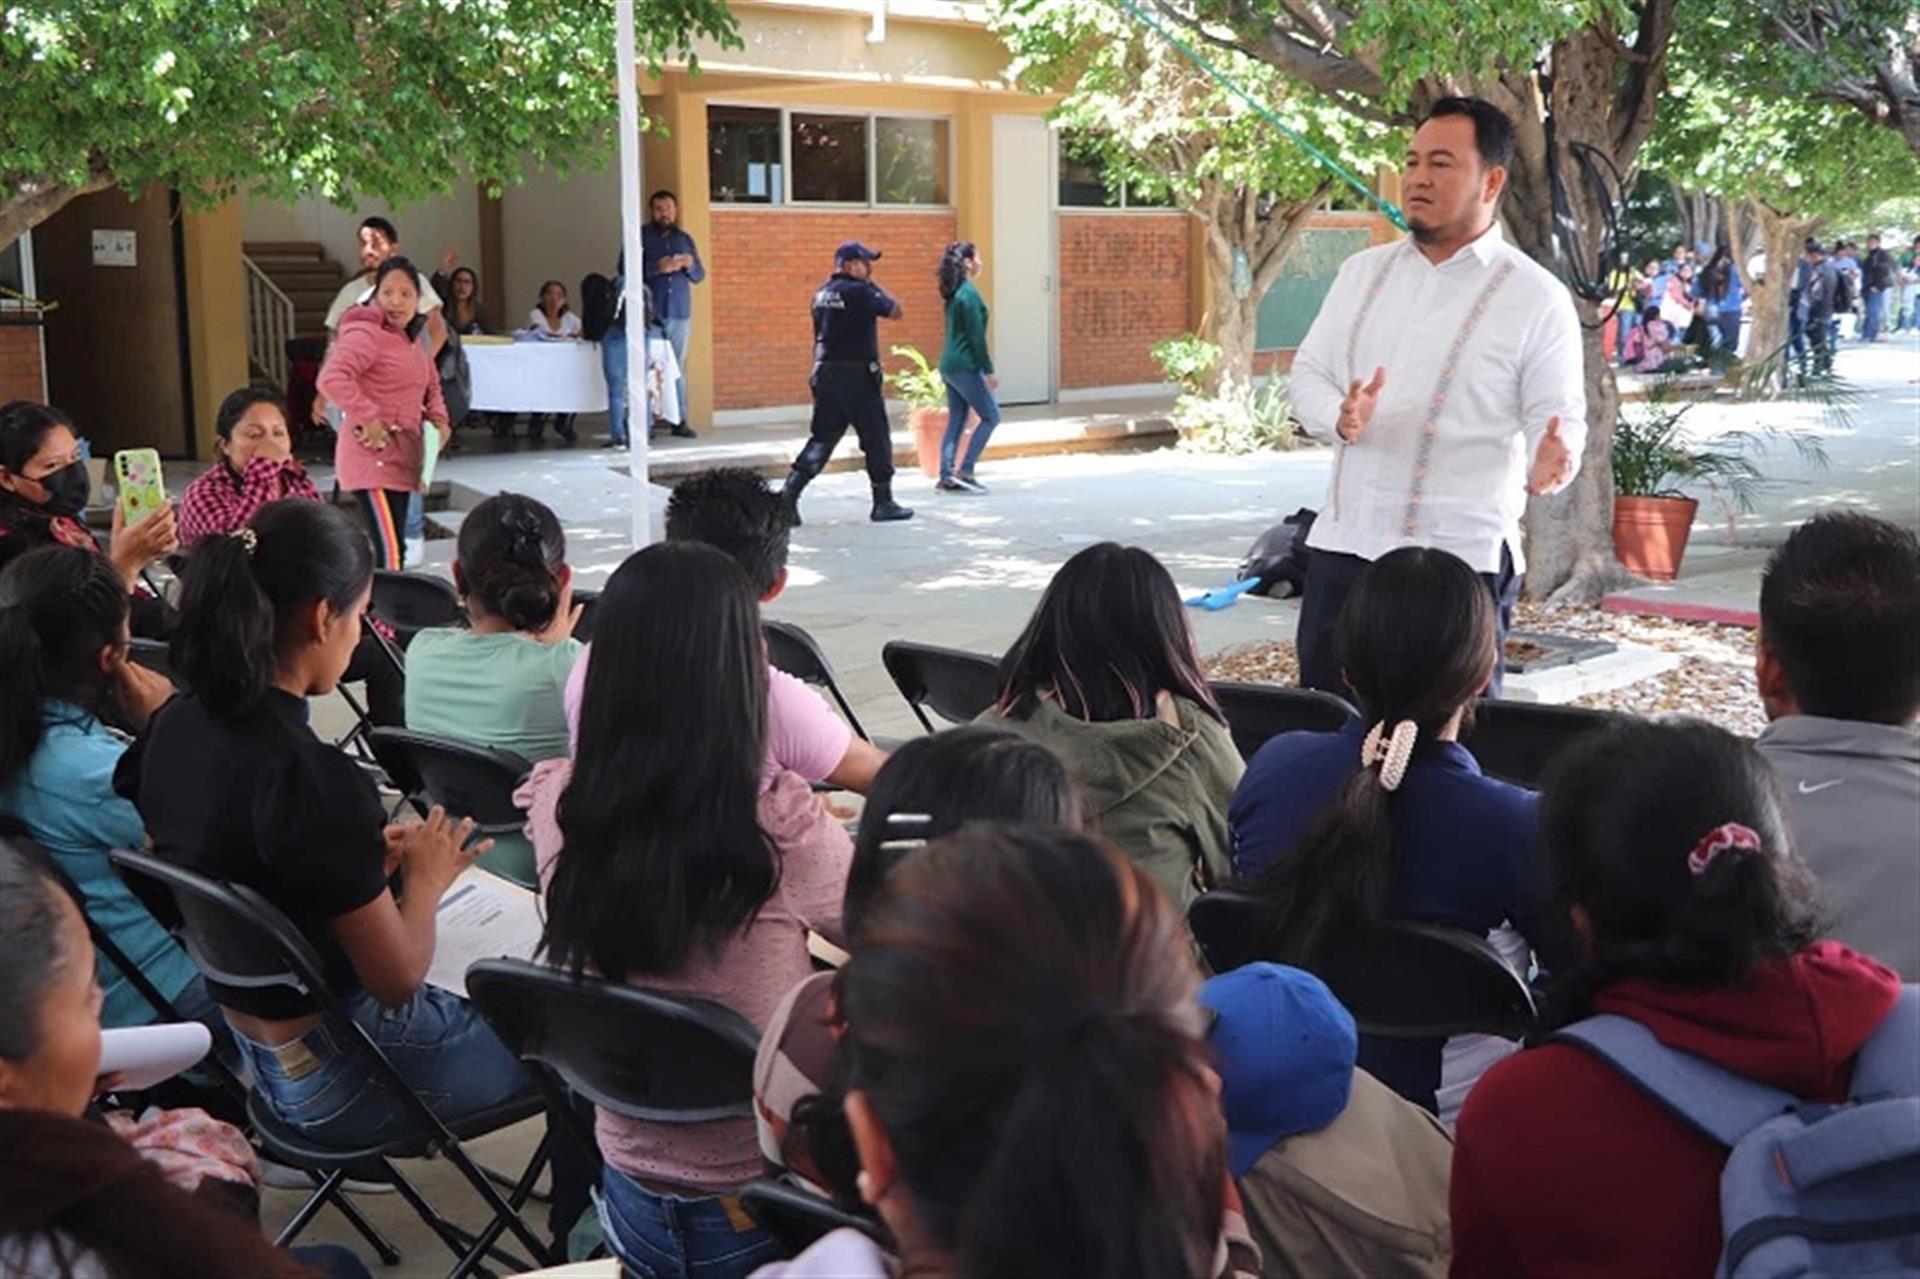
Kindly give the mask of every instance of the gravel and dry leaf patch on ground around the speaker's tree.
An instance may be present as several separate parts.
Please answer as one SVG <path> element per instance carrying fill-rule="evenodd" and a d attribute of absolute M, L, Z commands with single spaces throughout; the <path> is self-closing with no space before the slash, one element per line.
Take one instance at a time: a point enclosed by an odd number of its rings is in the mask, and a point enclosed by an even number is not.
<path fill-rule="evenodd" d="M 1517 630 L 1615 640 L 1680 655 L 1676 668 L 1605 693 L 1588 693 L 1574 699 L 1576 707 L 1649 716 L 1692 714 L 1743 737 L 1759 736 L 1766 726 L 1753 682 L 1751 630 L 1534 603 L 1515 609 L 1513 624 Z M 1292 643 L 1244 643 L 1210 657 L 1206 672 L 1213 680 L 1296 684 L 1300 661 Z"/>

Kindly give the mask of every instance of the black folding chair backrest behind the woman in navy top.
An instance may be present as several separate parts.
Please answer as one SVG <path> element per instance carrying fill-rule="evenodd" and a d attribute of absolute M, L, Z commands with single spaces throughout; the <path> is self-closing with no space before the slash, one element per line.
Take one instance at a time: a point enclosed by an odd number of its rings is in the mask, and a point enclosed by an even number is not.
<path fill-rule="evenodd" d="M 1273 958 L 1263 908 L 1250 893 L 1204 893 L 1187 924 L 1213 972 Z M 1434 1039 L 1523 1035 L 1534 997 L 1486 937 L 1440 924 L 1388 920 L 1325 962 L 1313 964 L 1367 1035 Z"/>

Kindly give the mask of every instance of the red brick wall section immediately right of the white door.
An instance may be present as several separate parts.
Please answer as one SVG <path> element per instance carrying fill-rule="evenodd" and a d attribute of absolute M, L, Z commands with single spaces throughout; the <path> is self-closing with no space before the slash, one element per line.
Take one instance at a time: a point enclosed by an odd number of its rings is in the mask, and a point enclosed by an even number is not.
<path fill-rule="evenodd" d="M 1060 386 L 1160 382 L 1152 350 L 1192 326 L 1185 213 L 1060 213 Z"/>

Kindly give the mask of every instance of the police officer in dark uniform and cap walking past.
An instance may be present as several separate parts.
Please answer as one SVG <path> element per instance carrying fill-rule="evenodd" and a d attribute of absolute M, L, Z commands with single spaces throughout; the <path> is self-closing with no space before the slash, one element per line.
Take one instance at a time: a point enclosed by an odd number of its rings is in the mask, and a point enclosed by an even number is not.
<path fill-rule="evenodd" d="M 887 426 L 887 401 L 881 396 L 885 374 L 879 369 L 879 317 L 900 319 L 900 303 L 874 282 L 874 261 L 879 250 L 849 240 L 833 253 L 833 275 L 814 294 L 814 388 L 812 436 L 793 459 L 781 495 L 801 522 L 801 490 L 804 490 L 833 447 L 852 426 L 866 453 L 866 478 L 874 486 L 870 519 L 908 520 L 912 511 L 893 499 L 893 432 Z"/>

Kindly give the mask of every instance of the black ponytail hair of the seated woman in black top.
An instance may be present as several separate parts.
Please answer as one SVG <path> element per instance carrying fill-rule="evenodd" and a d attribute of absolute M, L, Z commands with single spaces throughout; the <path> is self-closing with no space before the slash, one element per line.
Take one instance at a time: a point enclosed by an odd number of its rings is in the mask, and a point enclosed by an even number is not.
<path fill-rule="evenodd" d="M 173 670 L 215 718 L 242 718 L 273 688 L 294 613 L 317 599 L 346 611 L 371 586 L 367 534 L 344 511 L 269 501 L 244 528 L 202 538 L 188 553 Z"/>

